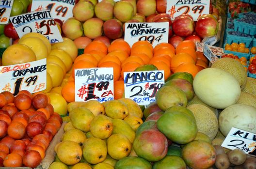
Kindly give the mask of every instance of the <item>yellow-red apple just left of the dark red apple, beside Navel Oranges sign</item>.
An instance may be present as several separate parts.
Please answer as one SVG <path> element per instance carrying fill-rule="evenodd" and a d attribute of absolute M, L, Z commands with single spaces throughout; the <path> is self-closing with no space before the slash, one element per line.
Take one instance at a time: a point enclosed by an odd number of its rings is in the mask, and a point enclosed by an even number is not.
<path fill-rule="evenodd" d="M 83 33 L 91 39 L 95 39 L 103 33 L 103 21 L 99 18 L 91 18 L 83 23 Z"/>

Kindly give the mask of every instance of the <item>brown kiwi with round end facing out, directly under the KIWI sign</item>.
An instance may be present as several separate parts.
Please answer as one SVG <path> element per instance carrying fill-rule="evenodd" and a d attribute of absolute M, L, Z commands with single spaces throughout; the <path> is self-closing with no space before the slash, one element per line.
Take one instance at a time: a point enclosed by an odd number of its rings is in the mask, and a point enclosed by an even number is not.
<path fill-rule="evenodd" d="M 229 159 L 230 163 L 237 165 L 237 166 L 239 166 L 245 162 L 246 156 L 247 155 L 244 153 L 244 151 L 242 151 L 238 148 L 231 150 L 228 153 L 228 159 Z"/>

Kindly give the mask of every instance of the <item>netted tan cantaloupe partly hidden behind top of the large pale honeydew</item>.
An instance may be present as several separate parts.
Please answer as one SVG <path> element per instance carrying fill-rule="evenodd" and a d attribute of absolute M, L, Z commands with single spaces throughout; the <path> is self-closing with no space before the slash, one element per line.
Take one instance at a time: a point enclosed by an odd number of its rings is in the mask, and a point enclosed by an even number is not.
<path fill-rule="evenodd" d="M 232 74 L 232 76 L 239 82 L 241 89 L 245 87 L 247 72 L 239 61 L 233 58 L 224 57 L 215 61 L 211 65 L 211 68 L 218 68 Z"/>

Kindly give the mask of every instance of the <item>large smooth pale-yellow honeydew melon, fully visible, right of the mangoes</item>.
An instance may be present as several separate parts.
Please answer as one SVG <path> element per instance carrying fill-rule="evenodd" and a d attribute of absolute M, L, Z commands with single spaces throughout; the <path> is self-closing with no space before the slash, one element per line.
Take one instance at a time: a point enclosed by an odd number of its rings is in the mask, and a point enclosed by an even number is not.
<path fill-rule="evenodd" d="M 224 109 L 235 104 L 241 93 L 236 78 L 217 68 L 199 71 L 193 80 L 193 88 L 200 100 L 216 109 Z"/>

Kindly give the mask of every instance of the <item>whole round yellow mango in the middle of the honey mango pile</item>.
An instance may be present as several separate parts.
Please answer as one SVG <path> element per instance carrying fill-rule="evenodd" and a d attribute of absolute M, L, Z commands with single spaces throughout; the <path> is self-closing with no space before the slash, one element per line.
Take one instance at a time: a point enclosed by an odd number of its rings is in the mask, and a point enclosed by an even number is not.
<path fill-rule="evenodd" d="M 113 131 L 112 119 L 106 115 L 97 115 L 91 122 L 90 131 L 94 137 L 107 139 Z"/>

